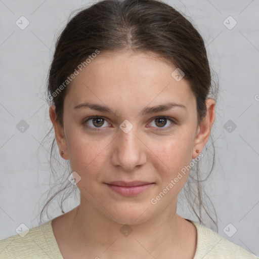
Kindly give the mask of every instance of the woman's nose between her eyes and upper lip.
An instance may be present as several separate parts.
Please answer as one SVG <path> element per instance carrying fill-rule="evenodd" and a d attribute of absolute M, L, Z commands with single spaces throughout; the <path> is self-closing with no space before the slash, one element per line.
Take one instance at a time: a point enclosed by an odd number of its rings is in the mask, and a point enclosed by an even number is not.
<path fill-rule="evenodd" d="M 115 166 L 121 166 L 125 171 L 132 171 L 136 166 L 146 163 L 145 144 L 143 140 L 134 131 L 134 128 L 124 133 L 119 130 L 114 150 L 112 152 L 112 163 Z"/>

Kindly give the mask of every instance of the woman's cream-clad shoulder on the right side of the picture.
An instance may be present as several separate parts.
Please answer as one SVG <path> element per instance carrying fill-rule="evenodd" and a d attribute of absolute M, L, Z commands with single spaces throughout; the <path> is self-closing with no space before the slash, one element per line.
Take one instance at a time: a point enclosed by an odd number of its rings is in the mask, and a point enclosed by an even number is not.
<path fill-rule="evenodd" d="M 211 229 L 191 221 L 197 229 L 197 247 L 194 259 L 258 259 L 254 254 L 246 251 Z"/>

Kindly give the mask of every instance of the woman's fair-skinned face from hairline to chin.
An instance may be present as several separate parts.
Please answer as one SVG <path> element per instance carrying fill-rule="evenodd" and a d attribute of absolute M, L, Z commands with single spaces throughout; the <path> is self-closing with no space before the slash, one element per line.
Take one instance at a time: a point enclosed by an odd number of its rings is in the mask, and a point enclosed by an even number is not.
<path fill-rule="evenodd" d="M 176 211 L 181 170 L 207 141 L 211 121 L 198 135 L 195 97 L 175 69 L 152 53 L 100 53 L 67 89 L 59 148 L 81 202 L 118 223 Z"/>

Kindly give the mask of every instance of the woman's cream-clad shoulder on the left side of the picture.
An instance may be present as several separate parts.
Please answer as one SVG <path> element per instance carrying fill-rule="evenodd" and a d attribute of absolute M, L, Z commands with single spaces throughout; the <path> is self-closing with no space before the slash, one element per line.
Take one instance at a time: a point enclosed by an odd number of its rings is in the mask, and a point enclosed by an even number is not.
<path fill-rule="evenodd" d="M 52 231 L 51 221 L 31 228 L 28 233 L 0 240 L 0 258 L 57 258 L 63 259 Z"/>

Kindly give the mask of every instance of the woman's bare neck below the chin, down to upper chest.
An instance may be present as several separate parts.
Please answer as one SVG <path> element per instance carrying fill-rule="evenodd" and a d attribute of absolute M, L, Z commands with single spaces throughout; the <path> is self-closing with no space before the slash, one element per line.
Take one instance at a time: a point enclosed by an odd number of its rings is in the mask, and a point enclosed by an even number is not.
<path fill-rule="evenodd" d="M 149 253 L 155 258 L 167 253 L 168 258 L 174 258 L 173 254 L 176 257 L 182 255 L 179 252 L 184 248 L 183 244 L 193 234 L 190 229 L 194 230 L 194 226 L 190 227 L 191 223 L 181 218 L 176 209 L 177 199 L 152 219 L 126 225 L 106 217 L 81 195 L 80 205 L 74 209 L 72 216 L 72 236 L 76 246 L 83 247 L 84 252 L 91 252 L 95 256 L 93 258 L 126 258 L 125 254 L 129 258 L 140 258 L 147 257 Z M 195 251 L 196 243 L 193 246 Z M 101 255 L 100 251 L 105 252 Z"/>

